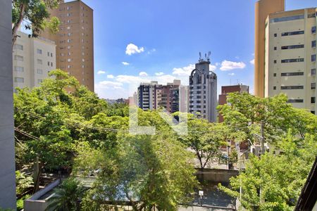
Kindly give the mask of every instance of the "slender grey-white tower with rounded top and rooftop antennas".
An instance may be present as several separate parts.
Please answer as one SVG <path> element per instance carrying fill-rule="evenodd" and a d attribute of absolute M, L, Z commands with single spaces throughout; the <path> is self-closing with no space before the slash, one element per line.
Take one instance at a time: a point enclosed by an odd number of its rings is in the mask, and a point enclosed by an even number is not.
<path fill-rule="evenodd" d="M 189 113 L 199 115 L 209 122 L 216 122 L 217 75 L 209 70 L 209 56 L 205 57 L 199 58 L 189 76 Z"/>

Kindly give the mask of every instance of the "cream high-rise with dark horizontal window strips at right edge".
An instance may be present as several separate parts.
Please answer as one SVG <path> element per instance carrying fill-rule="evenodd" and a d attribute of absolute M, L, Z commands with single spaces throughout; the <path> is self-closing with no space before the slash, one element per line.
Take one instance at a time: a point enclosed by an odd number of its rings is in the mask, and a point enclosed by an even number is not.
<path fill-rule="evenodd" d="M 316 8 L 268 14 L 264 96 L 285 93 L 297 108 L 316 113 Z"/>

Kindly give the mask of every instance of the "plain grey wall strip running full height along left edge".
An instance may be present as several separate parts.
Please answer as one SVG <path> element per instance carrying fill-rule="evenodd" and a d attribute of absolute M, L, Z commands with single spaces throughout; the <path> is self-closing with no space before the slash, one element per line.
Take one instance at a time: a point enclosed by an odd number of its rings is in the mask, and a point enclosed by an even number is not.
<path fill-rule="evenodd" d="M 0 207 L 15 209 L 11 4 L 0 3 Z"/>

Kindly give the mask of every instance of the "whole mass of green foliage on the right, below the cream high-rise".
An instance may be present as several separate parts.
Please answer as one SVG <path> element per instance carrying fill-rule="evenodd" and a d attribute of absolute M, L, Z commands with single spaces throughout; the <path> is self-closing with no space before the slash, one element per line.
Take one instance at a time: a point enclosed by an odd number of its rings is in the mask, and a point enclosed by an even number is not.
<path fill-rule="evenodd" d="M 238 197 L 247 210 L 293 210 L 317 155 L 317 117 L 293 108 L 283 94 L 230 94 L 228 102 L 220 106 L 225 122 L 238 125 L 253 143 L 264 122 L 270 153 L 261 158 L 250 154 L 245 170 L 230 180 L 232 188 L 220 188 Z"/>

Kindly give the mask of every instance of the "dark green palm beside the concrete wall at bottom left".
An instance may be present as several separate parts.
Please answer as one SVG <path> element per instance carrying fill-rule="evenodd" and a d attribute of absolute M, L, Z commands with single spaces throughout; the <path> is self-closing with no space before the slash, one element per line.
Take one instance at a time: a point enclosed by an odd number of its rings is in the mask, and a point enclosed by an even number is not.
<path fill-rule="evenodd" d="M 49 198 L 49 206 L 46 210 L 72 211 L 77 210 L 77 200 L 82 196 L 84 188 L 74 178 L 63 181 L 54 191 L 54 196 Z"/>

